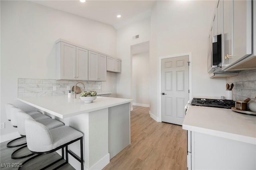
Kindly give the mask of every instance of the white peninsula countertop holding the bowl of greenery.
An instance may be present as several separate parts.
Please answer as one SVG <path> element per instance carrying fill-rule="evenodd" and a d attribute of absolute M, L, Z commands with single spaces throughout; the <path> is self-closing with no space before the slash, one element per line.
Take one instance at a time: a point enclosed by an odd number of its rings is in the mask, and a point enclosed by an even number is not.
<path fill-rule="evenodd" d="M 18 100 L 60 118 L 71 117 L 132 102 L 131 99 L 97 96 L 96 100 L 92 103 L 86 104 L 80 100 L 79 97 L 74 99 L 68 98 L 67 95 L 26 97 L 18 98 Z"/>

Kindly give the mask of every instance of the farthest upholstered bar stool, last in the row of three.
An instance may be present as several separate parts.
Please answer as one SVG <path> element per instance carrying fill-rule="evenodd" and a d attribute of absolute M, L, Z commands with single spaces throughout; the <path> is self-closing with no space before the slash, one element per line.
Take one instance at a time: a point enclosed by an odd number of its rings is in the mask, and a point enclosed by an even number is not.
<path fill-rule="evenodd" d="M 11 121 L 11 124 L 13 127 L 17 127 L 17 117 L 15 115 L 15 111 L 20 110 L 19 108 L 13 106 L 12 104 L 6 104 L 6 116 L 7 119 Z M 29 115 L 37 115 L 35 117 L 38 117 L 38 119 L 48 119 L 50 117 L 43 115 L 42 113 L 40 113 L 39 111 L 27 111 L 26 112 Z M 26 143 L 21 143 L 18 145 L 11 145 L 11 143 L 13 143 L 14 141 L 17 141 L 19 139 L 22 139 L 23 137 L 18 137 L 16 139 L 13 139 L 12 141 L 7 143 L 8 148 L 14 148 L 14 147 L 20 147 L 22 145 L 26 145 Z"/>

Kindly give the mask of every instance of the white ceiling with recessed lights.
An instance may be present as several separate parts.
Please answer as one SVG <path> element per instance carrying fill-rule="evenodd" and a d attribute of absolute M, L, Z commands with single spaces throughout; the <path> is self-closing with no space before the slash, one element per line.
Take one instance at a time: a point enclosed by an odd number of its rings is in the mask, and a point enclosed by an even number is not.
<path fill-rule="evenodd" d="M 116 29 L 150 16 L 156 0 L 32 0 L 50 8 L 113 25 Z M 122 17 L 117 18 L 120 14 Z"/>

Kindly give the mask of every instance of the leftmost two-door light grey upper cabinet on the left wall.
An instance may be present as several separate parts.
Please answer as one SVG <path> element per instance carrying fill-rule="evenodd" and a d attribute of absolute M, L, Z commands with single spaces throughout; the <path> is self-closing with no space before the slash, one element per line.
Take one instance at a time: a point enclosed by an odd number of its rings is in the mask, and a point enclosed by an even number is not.
<path fill-rule="evenodd" d="M 88 80 L 88 50 L 69 43 L 56 44 L 56 79 Z"/>

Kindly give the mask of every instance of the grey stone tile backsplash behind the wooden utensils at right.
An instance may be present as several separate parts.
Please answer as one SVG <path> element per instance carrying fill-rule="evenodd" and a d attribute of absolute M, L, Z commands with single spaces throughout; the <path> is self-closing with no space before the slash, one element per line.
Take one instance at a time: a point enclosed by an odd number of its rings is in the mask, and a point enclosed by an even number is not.
<path fill-rule="evenodd" d="M 226 83 L 234 83 L 233 100 L 244 101 L 250 98 L 252 101 L 256 97 L 256 70 L 244 70 L 237 76 L 226 78 Z"/>

